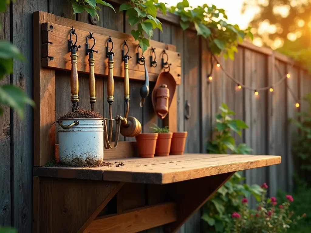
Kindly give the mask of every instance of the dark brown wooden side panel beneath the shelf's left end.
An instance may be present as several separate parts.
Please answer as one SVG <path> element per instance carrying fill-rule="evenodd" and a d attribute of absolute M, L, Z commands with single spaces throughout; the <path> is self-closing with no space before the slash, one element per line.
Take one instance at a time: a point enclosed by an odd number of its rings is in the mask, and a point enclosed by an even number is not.
<path fill-rule="evenodd" d="M 123 182 L 34 176 L 34 233 L 82 233 Z"/>

